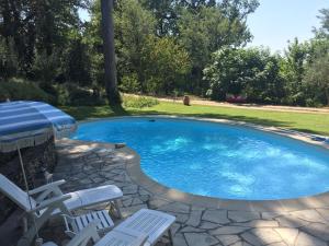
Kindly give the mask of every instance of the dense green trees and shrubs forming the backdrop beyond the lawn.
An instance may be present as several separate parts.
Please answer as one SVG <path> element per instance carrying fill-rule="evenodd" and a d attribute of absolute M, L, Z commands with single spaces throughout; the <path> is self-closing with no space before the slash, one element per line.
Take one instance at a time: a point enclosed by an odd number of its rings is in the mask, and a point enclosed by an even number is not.
<path fill-rule="evenodd" d="M 258 0 L 116 0 L 120 90 L 328 105 L 329 10 L 320 10 L 314 38 L 292 40 L 284 54 L 271 54 L 246 48 L 252 39 L 246 21 L 258 5 Z M 90 12 L 90 21 L 81 22 L 79 9 Z M 59 105 L 111 101 L 101 19 L 101 0 L 1 0 L 0 99 L 33 98 L 30 91 L 35 91 L 35 98 Z M 35 90 L 25 96 L 30 85 Z M 22 92 L 13 95 L 11 87 Z"/>

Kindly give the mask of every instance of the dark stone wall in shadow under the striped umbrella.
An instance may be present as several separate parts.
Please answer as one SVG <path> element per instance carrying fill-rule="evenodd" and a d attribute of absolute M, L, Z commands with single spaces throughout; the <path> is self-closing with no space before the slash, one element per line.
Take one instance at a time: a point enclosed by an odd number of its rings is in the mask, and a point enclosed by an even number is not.
<path fill-rule="evenodd" d="M 57 162 L 54 138 L 37 147 L 22 149 L 21 153 L 30 188 L 45 184 L 43 167 L 52 173 Z M 25 190 L 16 151 L 0 153 L 0 173 Z M 0 224 L 15 208 L 16 206 L 0 192 Z"/>

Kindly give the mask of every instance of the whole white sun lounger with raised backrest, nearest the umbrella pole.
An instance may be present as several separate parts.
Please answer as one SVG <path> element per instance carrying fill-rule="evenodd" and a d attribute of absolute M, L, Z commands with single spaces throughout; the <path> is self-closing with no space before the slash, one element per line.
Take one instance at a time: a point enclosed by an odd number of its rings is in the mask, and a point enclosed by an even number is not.
<path fill-rule="evenodd" d="M 27 192 L 23 191 L 14 183 L 0 174 L 0 191 L 14 201 L 26 214 L 35 221 L 36 229 L 27 229 L 24 223 L 24 237 L 31 242 L 36 231 L 49 219 L 56 214 L 69 214 L 70 211 L 84 207 L 91 207 L 104 202 L 112 202 L 117 214 L 121 216 L 117 200 L 122 198 L 123 192 L 113 185 L 100 186 L 90 189 L 82 189 L 75 192 L 63 195 L 59 186 L 65 180 L 47 184 L 30 190 L 30 199 Z M 36 196 L 34 199 L 32 196 Z"/>

